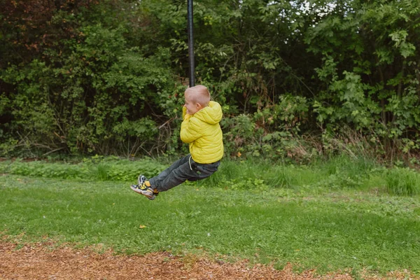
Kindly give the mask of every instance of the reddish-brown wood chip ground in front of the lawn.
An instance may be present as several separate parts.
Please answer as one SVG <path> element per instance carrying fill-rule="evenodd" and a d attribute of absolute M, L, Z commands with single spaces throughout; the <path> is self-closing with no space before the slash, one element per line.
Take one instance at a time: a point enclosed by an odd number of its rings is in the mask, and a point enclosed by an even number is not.
<path fill-rule="evenodd" d="M 407 274 L 393 274 L 389 279 L 405 278 Z M 16 249 L 15 244 L 0 243 L 0 279 L 352 279 L 349 274 L 323 277 L 313 272 L 294 274 L 291 267 L 279 271 L 273 267 L 249 267 L 244 262 L 210 261 L 194 255 L 183 258 L 169 253 L 143 256 L 95 253 L 89 249 L 69 247 L 51 251 L 42 245 L 27 245 Z M 380 279 L 368 277 L 364 279 Z M 387 278 L 388 279 L 388 278 Z"/>

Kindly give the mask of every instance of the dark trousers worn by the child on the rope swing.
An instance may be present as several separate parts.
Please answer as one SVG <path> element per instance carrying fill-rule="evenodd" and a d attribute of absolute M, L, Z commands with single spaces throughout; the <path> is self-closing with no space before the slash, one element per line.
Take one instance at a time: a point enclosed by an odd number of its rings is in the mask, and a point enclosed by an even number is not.
<path fill-rule="evenodd" d="M 191 158 L 191 155 L 186 155 L 180 160 L 176 160 L 170 167 L 162 171 L 158 176 L 149 180 L 151 187 L 158 192 L 164 192 L 174 188 L 185 181 L 197 181 L 209 177 L 217 171 L 218 162 L 201 164 L 197 163 Z"/>

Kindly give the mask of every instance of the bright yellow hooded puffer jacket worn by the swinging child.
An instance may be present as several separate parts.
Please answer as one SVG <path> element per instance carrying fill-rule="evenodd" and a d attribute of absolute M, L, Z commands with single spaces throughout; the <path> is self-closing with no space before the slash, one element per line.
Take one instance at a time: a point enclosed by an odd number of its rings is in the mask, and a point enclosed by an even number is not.
<path fill-rule="evenodd" d="M 221 105 L 213 101 L 194 115 L 186 113 L 183 107 L 181 140 L 190 144 L 195 162 L 213 163 L 223 157 L 223 134 L 219 125 L 222 116 Z"/>

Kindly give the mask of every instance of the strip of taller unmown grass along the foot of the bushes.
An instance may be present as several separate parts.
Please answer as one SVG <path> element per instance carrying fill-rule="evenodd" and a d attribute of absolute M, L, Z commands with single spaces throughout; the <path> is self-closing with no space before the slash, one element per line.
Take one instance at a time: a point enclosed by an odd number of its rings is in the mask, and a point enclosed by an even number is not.
<path fill-rule="evenodd" d="M 82 181 L 135 182 L 139 174 L 149 178 L 168 165 L 158 160 L 103 158 L 78 164 L 49 162 L 0 162 L 0 173 L 78 179 Z M 197 186 L 265 190 L 267 188 L 374 188 L 395 195 L 416 195 L 419 175 L 411 169 L 386 169 L 373 160 L 340 155 L 311 165 L 286 165 L 262 160 L 222 160 L 218 172 Z"/>

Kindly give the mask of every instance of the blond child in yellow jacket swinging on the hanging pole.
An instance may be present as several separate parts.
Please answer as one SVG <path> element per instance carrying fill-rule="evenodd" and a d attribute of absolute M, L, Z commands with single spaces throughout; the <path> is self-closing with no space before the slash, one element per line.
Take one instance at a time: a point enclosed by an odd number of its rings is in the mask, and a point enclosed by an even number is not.
<path fill-rule="evenodd" d="M 139 183 L 131 189 L 149 200 L 186 180 L 202 180 L 214 174 L 223 157 L 223 134 L 219 125 L 223 116 L 221 105 L 210 101 L 209 90 L 204 85 L 188 87 L 185 102 L 181 140 L 190 145 L 190 154 L 150 180 L 139 176 Z"/>

